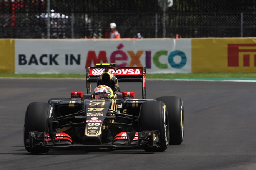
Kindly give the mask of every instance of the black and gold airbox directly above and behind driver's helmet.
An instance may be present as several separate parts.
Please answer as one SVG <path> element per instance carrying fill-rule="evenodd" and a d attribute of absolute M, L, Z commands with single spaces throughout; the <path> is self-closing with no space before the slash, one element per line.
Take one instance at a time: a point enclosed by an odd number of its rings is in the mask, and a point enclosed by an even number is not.
<path fill-rule="evenodd" d="M 118 80 L 111 71 L 105 71 L 98 77 L 98 85 L 107 85 L 113 91 L 119 90 Z"/>

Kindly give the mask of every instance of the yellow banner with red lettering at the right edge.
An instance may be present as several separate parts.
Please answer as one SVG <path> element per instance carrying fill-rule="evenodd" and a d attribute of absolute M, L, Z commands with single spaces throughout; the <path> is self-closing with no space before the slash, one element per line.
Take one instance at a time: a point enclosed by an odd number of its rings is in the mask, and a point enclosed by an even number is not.
<path fill-rule="evenodd" d="M 192 39 L 192 72 L 256 72 L 255 38 Z"/>

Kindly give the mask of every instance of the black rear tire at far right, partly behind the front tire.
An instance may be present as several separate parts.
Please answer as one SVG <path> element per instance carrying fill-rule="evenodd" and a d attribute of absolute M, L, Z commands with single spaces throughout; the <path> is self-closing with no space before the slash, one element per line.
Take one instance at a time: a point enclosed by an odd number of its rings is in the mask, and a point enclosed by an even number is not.
<path fill-rule="evenodd" d="M 184 108 L 183 101 L 179 97 L 164 96 L 156 98 L 163 101 L 168 110 L 170 127 L 170 145 L 179 145 L 184 139 Z"/>

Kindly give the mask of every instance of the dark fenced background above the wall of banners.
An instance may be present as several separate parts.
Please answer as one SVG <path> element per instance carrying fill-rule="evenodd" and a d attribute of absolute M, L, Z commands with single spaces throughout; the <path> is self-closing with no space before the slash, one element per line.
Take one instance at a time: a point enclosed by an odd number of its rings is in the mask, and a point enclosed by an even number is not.
<path fill-rule="evenodd" d="M 256 0 L 0 0 L 0 38 L 256 37 Z"/>

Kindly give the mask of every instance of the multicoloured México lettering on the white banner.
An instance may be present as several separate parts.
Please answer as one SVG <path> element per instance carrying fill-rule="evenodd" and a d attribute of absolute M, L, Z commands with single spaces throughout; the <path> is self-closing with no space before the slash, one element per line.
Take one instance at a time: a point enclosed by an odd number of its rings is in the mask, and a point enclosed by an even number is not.
<path fill-rule="evenodd" d="M 147 69 L 151 68 L 152 65 L 152 60 L 151 60 L 151 54 L 152 52 L 149 50 L 143 51 L 143 50 L 139 50 L 136 53 L 134 51 L 123 51 L 123 44 L 119 44 L 117 46 L 117 50 L 113 51 L 110 54 L 110 63 L 116 63 L 117 61 L 119 61 L 119 63 L 121 62 L 121 64 L 117 64 L 116 67 L 143 67 L 143 63 L 141 63 L 141 56 L 143 56 L 144 52 L 145 52 L 145 67 Z M 166 56 L 168 57 L 168 63 L 161 63 L 160 62 L 160 57 L 161 56 Z M 181 61 L 179 63 L 176 63 L 174 61 L 174 57 L 175 56 L 180 56 L 181 57 Z M 130 57 L 130 63 L 128 63 Z M 85 64 L 85 68 L 87 67 L 91 67 L 96 65 L 96 63 L 107 63 L 108 62 L 108 58 L 107 58 L 107 54 L 106 51 L 100 51 L 98 56 L 96 54 L 95 51 L 88 51 L 87 57 L 86 57 L 86 64 Z M 187 57 L 186 54 L 183 51 L 179 51 L 179 50 L 175 50 L 172 51 L 169 55 L 168 55 L 168 51 L 167 50 L 160 50 L 155 52 L 155 54 L 153 54 L 153 63 L 155 64 L 156 67 L 160 68 L 160 69 L 167 69 L 168 68 L 168 64 L 176 69 L 181 69 L 182 67 L 184 67 L 186 65 L 187 62 Z M 92 65 L 94 64 L 94 65 Z"/>

